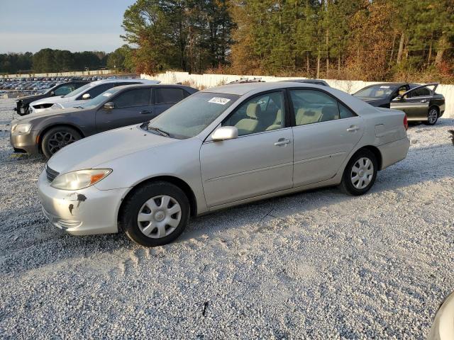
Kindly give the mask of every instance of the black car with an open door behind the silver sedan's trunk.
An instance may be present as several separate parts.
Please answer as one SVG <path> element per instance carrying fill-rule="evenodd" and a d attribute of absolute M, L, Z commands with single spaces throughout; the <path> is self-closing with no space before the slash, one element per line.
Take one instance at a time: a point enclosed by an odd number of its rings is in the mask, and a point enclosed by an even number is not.
<path fill-rule="evenodd" d="M 437 123 L 445 112 L 445 97 L 436 93 L 438 83 L 382 83 L 366 86 L 353 96 L 379 108 L 394 108 L 406 113 L 409 121 Z"/>

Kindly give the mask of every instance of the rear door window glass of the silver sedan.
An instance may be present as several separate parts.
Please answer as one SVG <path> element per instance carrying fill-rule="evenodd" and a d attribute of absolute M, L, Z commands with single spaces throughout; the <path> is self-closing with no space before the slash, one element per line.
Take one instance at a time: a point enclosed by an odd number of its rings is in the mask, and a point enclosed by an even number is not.
<path fill-rule="evenodd" d="M 328 94 L 314 90 L 291 90 L 297 125 L 339 119 L 338 103 Z"/>

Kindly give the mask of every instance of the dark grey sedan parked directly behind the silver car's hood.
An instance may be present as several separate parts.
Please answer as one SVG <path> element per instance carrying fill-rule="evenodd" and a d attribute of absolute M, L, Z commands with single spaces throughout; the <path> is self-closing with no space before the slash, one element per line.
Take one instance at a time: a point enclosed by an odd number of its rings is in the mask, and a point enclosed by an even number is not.
<path fill-rule="evenodd" d="M 43 153 L 50 158 L 84 137 L 151 120 L 196 91 L 183 85 L 117 86 L 74 108 L 13 120 L 11 145 L 15 152 Z"/>

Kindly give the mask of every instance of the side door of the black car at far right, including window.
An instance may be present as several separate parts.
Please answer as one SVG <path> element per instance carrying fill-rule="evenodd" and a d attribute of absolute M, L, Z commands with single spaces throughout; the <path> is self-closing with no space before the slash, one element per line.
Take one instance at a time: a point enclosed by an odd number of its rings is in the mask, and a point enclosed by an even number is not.
<path fill-rule="evenodd" d="M 424 120 L 427 119 L 430 101 L 431 90 L 427 86 L 417 86 L 407 91 L 402 98 L 394 98 L 391 108 L 404 111 L 406 116 L 413 120 Z"/>

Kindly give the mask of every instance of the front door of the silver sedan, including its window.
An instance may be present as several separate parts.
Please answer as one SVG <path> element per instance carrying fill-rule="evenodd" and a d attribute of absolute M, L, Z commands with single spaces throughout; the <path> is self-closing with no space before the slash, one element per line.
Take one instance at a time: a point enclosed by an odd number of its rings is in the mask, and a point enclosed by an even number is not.
<path fill-rule="evenodd" d="M 201 178 L 209 207 L 292 188 L 293 136 L 285 126 L 284 94 L 247 99 L 224 122 L 238 138 L 206 141 Z"/>

